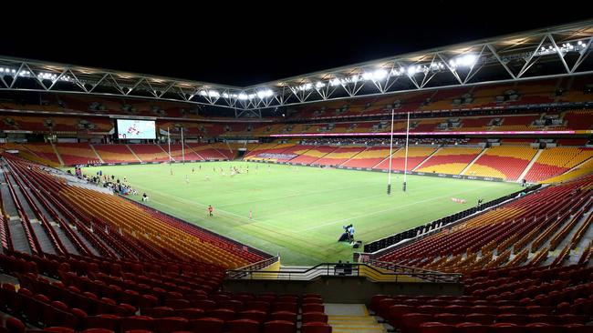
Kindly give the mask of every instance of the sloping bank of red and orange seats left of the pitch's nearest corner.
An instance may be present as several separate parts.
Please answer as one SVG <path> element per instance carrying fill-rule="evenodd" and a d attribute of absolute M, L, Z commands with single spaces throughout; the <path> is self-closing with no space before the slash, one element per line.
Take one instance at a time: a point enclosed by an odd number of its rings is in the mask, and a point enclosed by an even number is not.
<path fill-rule="evenodd" d="M 5 231 L 11 235 L 12 241 L 6 243 L 8 248 L 35 255 L 66 255 L 72 251 L 76 255 L 101 254 L 130 259 L 170 258 L 173 262 L 204 262 L 219 267 L 241 267 L 250 260 L 264 258 L 232 241 L 126 199 L 67 185 L 51 173 L 16 157 L 5 158 L 3 168 L 7 183 L 26 184 L 51 193 L 45 197 L 30 189 L 8 187 L 12 200 L 5 197 L 5 216 L 23 218 L 23 223 L 7 224 Z M 76 209 L 71 210 L 74 207 Z M 120 214 L 109 213 L 114 211 Z M 39 227 L 29 225 L 29 219 L 33 218 L 41 221 Z M 52 220 L 63 229 L 52 226 Z M 67 223 L 77 231 L 66 226 Z M 94 232 L 89 233 L 88 227 Z M 57 230 L 60 230 L 59 234 Z M 87 239 L 83 241 L 83 238 Z"/>

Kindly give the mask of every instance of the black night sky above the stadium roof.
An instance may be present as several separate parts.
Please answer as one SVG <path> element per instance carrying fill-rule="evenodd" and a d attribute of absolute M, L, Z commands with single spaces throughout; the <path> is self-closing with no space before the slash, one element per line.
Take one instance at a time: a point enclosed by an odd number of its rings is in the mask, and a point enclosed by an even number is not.
<path fill-rule="evenodd" d="M 0 55 L 247 86 L 590 16 L 586 10 L 550 10 L 543 1 L 536 2 L 546 7 L 542 13 L 519 1 L 443 0 L 393 8 L 358 2 L 348 8 L 344 0 L 328 10 L 283 1 L 266 13 L 227 2 L 234 14 L 174 2 L 141 4 L 141 12 L 85 5 L 73 14 L 52 4 L 51 12 L 3 15 L 9 29 L 3 28 Z"/>

